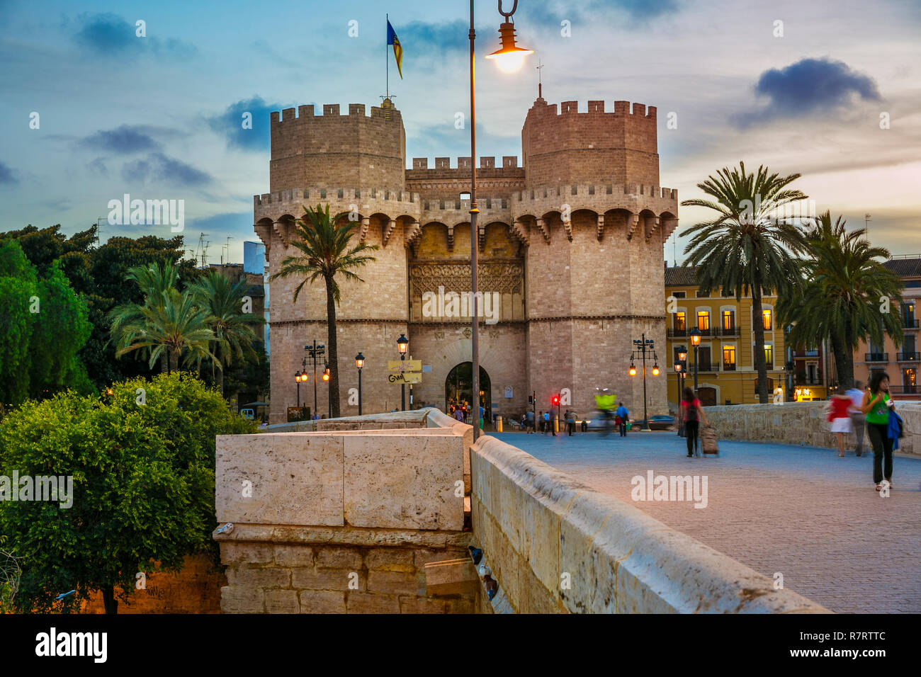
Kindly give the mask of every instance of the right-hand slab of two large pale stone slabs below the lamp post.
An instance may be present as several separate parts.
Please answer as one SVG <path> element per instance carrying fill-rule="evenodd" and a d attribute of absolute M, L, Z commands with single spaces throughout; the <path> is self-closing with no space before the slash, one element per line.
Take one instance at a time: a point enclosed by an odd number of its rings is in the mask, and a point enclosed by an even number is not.
<path fill-rule="evenodd" d="M 349 435 L 343 444 L 348 524 L 461 531 L 463 496 L 455 496 L 463 476 L 461 438 Z"/>

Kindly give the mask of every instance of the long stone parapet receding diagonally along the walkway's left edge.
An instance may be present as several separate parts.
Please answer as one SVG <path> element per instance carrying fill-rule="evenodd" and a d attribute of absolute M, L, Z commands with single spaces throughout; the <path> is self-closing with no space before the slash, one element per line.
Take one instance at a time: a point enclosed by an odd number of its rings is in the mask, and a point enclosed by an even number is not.
<path fill-rule="evenodd" d="M 519 613 L 559 605 L 575 613 L 827 613 L 520 449 L 484 437 L 472 454 L 474 537 Z M 536 505 L 529 508 L 530 503 Z M 516 530 L 516 514 L 528 525 L 526 530 Z M 547 559 L 553 562 L 557 529 L 559 579 L 546 565 Z M 544 530 L 550 533 L 534 533 Z M 519 548 L 530 557 L 522 556 Z"/>

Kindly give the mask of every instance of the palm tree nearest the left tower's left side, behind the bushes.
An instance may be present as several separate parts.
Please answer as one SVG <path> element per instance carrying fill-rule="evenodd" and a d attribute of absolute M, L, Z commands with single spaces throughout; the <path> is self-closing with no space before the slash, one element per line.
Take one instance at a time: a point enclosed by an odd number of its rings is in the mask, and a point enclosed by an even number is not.
<path fill-rule="evenodd" d="M 244 353 L 256 357 L 252 342 L 257 340 L 257 336 L 251 325 L 265 322 L 259 315 L 243 312 L 246 288 L 245 279 L 232 283 L 216 271 L 210 271 L 192 286 L 199 307 L 209 313 L 208 324 L 215 334 L 211 351 L 216 356 L 212 363 L 212 377 L 216 377 L 221 394 L 224 394 L 224 368 L 233 362 L 234 357 L 239 359 Z"/>

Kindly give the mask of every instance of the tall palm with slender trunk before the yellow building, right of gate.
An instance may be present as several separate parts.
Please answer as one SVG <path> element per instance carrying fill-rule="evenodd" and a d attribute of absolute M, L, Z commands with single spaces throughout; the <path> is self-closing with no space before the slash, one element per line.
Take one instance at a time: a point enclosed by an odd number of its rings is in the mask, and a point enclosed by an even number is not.
<path fill-rule="evenodd" d="M 684 200 L 682 206 L 706 207 L 717 212 L 711 221 L 687 231 L 694 237 L 684 248 L 684 265 L 697 266 L 697 284 L 705 294 L 715 287 L 736 300 L 752 294 L 754 367 L 758 372 L 758 400 L 767 403 L 767 367 L 764 362 L 762 298 L 777 290 L 784 294 L 799 285 L 799 266 L 792 254 L 804 251 L 802 230 L 791 219 L 776 217 L 785 204 L 806 199 L 787 186 L 799 174 L 780 176 L 763 166 L 756 173 L 723 168 L 697 188 L 712 199 Z"/>

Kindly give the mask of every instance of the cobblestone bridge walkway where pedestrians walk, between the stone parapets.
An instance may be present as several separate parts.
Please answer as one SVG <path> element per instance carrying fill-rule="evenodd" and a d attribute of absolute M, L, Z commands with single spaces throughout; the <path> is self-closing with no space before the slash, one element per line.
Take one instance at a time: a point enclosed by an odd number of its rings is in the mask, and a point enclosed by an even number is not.
<path fill-rule="evenodd" d="M 689 459 L 672 432 L 497 434 L 838 613 L 921 613 L 921 459 L 896 456 L 892 496 L 873 490 L 872 455 L 721 440 Z M 635 475 L 707 477 L 707 506 L 634 501 Z"/>

